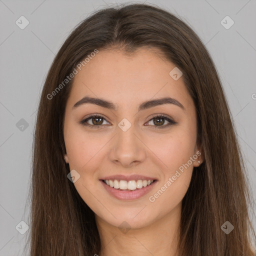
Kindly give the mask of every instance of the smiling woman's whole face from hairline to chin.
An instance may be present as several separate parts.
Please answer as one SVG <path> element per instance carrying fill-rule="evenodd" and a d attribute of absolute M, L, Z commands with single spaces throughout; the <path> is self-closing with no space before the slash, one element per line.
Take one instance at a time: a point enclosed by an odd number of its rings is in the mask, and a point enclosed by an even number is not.
<path fill-rule="evenodd" d="M 130 57 L 99 50 L 77 69 L 64 115 L 65 161 L 100 221 L 138 228 L 180 214 L 200 153 L 195 107 L 173 68 L 140 48 Z"/>

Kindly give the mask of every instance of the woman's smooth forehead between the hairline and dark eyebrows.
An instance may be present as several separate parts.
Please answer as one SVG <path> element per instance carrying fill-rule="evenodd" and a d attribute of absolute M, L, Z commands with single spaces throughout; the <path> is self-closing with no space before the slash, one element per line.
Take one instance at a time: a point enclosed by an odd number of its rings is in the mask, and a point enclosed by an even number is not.
<path fill-rule="evenodd" d="M 121 50 L 99 50 L 74 76 L 69 101 L 90 95 L 109 99 L 120 107 L 163 96 L 191 104 L 182 76 L 169 74 L 175 67 L 157 49 L 139 48 L 126 55 Z M 174 69 L 175 70 L 175 69 Z M 75 102 L 74 102 L 75 101 Z"/>

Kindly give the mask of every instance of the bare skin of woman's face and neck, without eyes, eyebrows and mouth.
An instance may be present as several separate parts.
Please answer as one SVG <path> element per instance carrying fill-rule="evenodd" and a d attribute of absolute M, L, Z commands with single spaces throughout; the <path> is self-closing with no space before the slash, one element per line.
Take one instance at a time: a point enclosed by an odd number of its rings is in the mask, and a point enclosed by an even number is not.
<path fill-rule="evenodd" d="M 108 49 L 99 50 L 74 77 L 64 115 L 64 159 L 70 170 L 80 174 L 74 186 L 95 213 L 102 240 L 100 256 L 162 256 L 174 255 L 176 250 L 181 200 L 193 167 L 203 159 L 198 156 L 154 202 L 149 201 L 148 197 L 199 150 L 195 106 L 182 76 L 174 80 L 169 75 L 174 67 L 160 58 L 156 49 L 140 48 L 131 56 Z M 118 109 L 91 103 L 72 109 L 85 95 L 112 101 Z M 184 110 L 162 104 L 137 111 L 141 102 L 166 96 L 178 100 Z M 79 123 L 96 113 L 104 116 L 102 128 Z M 154 128 L 153 114 L 168 115 L 177 123 Z M 131 123 L 125 132 L 118 127 L 123 118 Z M 87 123 L 93 125 L 92 121 Z M 160 125 L 167 123 L 162 120 Z M 99 181 L 114 174 L 141 174 L 158 181 L 148 194 L 124 201 L 111 196 Z M 123 221 L 130 226 L 126 233 L 118 228 Z"/>

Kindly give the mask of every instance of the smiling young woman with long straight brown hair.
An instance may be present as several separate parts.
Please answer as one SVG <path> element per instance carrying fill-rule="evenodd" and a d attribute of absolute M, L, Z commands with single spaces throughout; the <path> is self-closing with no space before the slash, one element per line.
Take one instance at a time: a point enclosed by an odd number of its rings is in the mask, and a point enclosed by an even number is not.
<path fill-rule="evenodd" d="M 61 46 L 41 93 L 31 192 L 33 256 L 255 255 L 214 64 L 154 6 L 99 10 Z"/>

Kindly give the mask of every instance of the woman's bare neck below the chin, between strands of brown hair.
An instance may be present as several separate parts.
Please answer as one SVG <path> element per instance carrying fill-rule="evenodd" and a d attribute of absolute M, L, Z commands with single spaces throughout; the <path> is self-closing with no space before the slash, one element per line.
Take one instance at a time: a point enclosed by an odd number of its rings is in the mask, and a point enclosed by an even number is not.
<path fill-rule="evenodd" d="M 140 228 L 121 230 L 95 215 L 101 250 L 99 256 L 176 255 L 181 203 L 171 212 Z"/>

